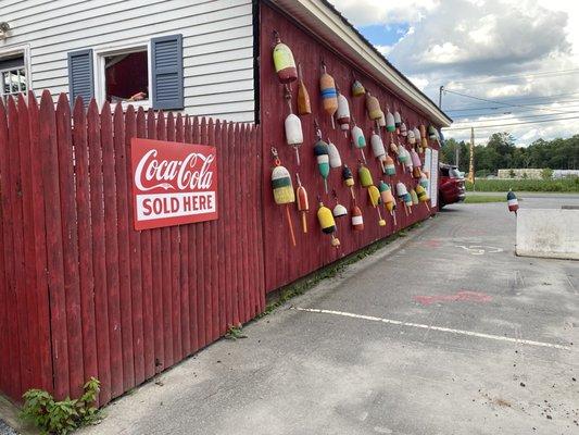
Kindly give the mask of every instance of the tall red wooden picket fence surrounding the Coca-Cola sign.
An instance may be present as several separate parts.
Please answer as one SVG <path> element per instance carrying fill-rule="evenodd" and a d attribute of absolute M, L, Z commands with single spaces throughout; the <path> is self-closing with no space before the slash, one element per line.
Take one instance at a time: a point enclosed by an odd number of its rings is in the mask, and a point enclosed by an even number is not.
<path fill-rule="evenodd" d="M 219 220 L 137 232 L 133 137 L 217 147 Z M 264 309 L 255 126 L 0 101 L 0 390 L 106 403 Z"/>

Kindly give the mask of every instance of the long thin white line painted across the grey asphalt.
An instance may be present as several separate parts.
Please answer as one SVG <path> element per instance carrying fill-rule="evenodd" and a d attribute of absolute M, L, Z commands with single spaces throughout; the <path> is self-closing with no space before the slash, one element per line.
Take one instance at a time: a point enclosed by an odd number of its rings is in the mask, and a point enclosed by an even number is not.
<path fill-rule="evenodd" d="M 320 310 L 320 309 L 317 309 L 317 308 L 292 307 L 292 309 L 293 310 L 298 310 L 298 311 L 306 311 L 306 312 L 319 313 L 319 314 L 333 314 L 333 315 L 341 315 L 343 318 L 369 320 L 372 322 L 381 322 L 381 323 L 388 323 L 388 324 L 391 324 L 391 325 L 418 327 L 418 328 L 421 328 L 421 330 L 440 331 L 440 332 L 443 332 L 443 333 L 468 335 L 470 337 L 488 338 L 488 339 L 493 339 L 493 340 L 498 340 L 498 341 L 508 341 L 508 343 L 516 343 L 516 344 L 520 344 L 520 345 L 529 345 L 529 346 L 538 346 L 538 347 L 550 347 L 550 348 L 553 348 L 553 349 L 562 349 L 562 350 L 571 350 L 571 348 L 569 346 L 555 345 L 553 343 L 533 341 L 533 340 L 527 340 L 527 339 L 521 339 L 521 338 L 513 338 L 513 337 L 503 337 L 501 335 L 475 333 L 473 331 L 453 330 L 451 327 L 424 325 L 421 323 L 401 322 L 399 320 L 375 318 L 374 315 L 354 314 L 354 313 L 349 313 L 349 312 L 343 312 L 343 311 L 333 311 L 333 310 Z"/>

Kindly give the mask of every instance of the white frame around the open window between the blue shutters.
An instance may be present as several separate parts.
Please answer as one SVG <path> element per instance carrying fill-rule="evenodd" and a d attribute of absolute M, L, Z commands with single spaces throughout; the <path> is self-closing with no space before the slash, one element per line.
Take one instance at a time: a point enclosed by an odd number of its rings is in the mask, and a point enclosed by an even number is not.
<path fill-rule="evenodd" d="M 104 102 L 106 101 L 106 75 L 104 73 L 104 65 L 105 65 L 105 58 L 110 55 L 117 55 L 117 54 L 128 54 L 134 53 L 137 51 L 143 51 L 147 50 L 147 74 L 148 74 L 148 80 L 149 86 L 147 89 L 147 96 L 148 99 L 143 101 L 123 101 L 123 110 L 126 110 L 128 105 L 133 105 L 134 108 L 143 108 L 144 110 L 149 110 L 153 107 L 153 95 L 152 95 L 152 83 L 153 83 L 153 74 L 152 74 L 152 63 L 151 63 L 151 41 L 149 39 L 147 40 L 136 40 L 130 44 L 124 44 L 124 45 L 117 45 L 117 46 L 103 46 L 99 48 L 92 49 L 92 55 L 93 55 L 93 63 L 96 65 L 95 71 L 95 98 L 99 104 L 99 107 L 102 107 Z M 114 111 L 117 103 L 111 103 L 111 110 Z"/>

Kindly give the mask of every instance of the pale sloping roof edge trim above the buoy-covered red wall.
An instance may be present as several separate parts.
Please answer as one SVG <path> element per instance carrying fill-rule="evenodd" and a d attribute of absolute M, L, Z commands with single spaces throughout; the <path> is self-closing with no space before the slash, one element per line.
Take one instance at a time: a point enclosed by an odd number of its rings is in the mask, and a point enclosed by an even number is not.
<path fill-rule="evenodd" d="M 328 0 L 269 0 L 281 8 L 302 25 L 319 33 L 320 28 L 326 28 L 337 36 L 344 44 L 344 48 L 356 61 L 364 63 L 385 84 L 393 87 L 398 94 L 406 97 L 421 111 L 430 116 L 430 121 L 438 123 L 441 127 L 449 127 L 452 119 L 440 110 L 435 102 L 416 87 L 404 74 L 397 70 L 386 57 L 376 49 Z M 298 18 L 293 9 L 299 7 L 309 16 L 309 22 Z"/>

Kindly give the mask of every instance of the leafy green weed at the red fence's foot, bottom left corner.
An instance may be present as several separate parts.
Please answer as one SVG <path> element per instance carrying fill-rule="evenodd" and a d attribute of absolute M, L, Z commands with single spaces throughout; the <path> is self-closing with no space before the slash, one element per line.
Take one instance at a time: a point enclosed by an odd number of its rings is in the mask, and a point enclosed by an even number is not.
<path fill-rule="evenodd" d="M 91 377 L 84 386 L 83 396 L 78 399 L 67 397 L 61 401 L 55 401 L 50 393 L 42 389 L 29 389 L 22 396 L 24 406 L 21 417 L 42 434 L 68 434 L 97 420 L 95 403 L 100 384 L 99 380 Z"/>

